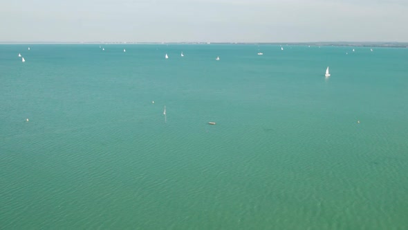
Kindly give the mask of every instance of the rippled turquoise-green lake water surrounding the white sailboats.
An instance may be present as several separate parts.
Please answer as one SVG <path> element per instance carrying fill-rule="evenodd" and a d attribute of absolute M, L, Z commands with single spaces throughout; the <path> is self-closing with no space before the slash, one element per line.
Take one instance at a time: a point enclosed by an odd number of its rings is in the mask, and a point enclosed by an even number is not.
<path fill-rule="evenodd" d="M 0 45 L 0 229 L 408 229 L 408 48 L 102 47 Z"/>

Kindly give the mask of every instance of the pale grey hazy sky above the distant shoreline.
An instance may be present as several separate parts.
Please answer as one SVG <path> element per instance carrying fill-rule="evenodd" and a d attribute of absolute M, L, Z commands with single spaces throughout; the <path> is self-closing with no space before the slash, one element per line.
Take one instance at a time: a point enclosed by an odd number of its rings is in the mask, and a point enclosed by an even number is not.
<path fill-rule="evenodd" d="M 408 42 L 408 0 L 0 1 L 0 42 Z"/>

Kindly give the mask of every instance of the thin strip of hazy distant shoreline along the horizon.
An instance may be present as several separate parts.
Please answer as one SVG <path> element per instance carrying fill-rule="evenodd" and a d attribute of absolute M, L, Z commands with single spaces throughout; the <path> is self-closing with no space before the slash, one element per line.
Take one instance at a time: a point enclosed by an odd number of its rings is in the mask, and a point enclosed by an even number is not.
<path fill-rule="evenodd" d="M 0 42 L 0 44 L 235 44 L 292 46 L 369 46 L 408 48 L 408 42 Z"/>

